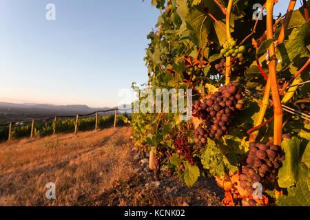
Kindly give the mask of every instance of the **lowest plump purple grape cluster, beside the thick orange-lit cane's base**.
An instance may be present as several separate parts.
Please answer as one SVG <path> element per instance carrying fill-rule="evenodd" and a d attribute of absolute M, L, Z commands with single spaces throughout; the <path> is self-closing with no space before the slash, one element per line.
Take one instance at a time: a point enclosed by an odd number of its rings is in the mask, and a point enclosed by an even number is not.
<path fill-rule="evenodd" d="M 258 142 L 249 144 L 249 155 L 247 156 L 247 166 L 242 167 L 242 174 L 239 175 L 240 186 L 247 190 L 248 195 L 254 192 L 254 183 L 261 184 L 276 181 L 278 169 L 282 166 L 285 154 L 280 146 L 265 145 Z M 265 187 L 262 186 L 262 192 Z"/>

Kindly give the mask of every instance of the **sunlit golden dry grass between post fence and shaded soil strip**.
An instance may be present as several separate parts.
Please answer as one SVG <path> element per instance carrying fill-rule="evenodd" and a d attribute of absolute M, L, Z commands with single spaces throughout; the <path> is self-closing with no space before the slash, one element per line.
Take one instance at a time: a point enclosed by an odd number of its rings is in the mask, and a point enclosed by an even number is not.
<path fill-rule="evenodd" d="M 0 144 L 0 206 L 96 206 L 96 195 L 134 175 L 130 127 Z M 46 199 L 45 184 L 56 184 Z"/>

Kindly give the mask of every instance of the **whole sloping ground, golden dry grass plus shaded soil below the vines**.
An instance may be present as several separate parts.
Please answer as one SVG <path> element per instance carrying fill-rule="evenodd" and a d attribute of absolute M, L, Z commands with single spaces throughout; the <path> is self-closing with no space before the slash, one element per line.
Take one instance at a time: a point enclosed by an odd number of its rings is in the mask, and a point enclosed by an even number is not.
<path fill-rule="evenodd" d="M 0 144 L 0 206 L 220 206 L 212 179 L 191 189 L 152 172 L 131 147 L 130 127 Z M 139 158 L 139 159 L 137 159 Z M 56 186 L 46 199 L 45 184 Z"/>

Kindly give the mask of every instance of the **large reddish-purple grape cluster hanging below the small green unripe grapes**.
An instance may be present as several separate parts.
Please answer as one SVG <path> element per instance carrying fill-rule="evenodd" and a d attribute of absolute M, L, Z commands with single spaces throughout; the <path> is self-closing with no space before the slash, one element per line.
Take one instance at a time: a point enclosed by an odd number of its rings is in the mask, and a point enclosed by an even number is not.
<path fill-rule="evenodd" d="M 197 100 L 193 105 L 193 115 L 203 120 L 196 129 L 194 142 L 198 148 L 203 146 L 207 137 L 222 137 L 227 135 L 232 115 L 243 109 L 243 100 L 240 83 L 229 83 L 225 87 L 220 87 L 210 98 L 203 102 Z"/>

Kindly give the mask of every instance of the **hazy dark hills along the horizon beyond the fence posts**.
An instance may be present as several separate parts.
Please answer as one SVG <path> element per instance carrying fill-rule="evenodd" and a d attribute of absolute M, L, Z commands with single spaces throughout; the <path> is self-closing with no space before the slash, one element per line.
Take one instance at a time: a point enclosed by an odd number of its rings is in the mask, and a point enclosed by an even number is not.
<path fill-rule="evenodd" d="M 1 122 L 25 121 L 52 117 L 54 115 L 87 114 L 93 111 L 108 110 L 113 108 L 90 108 L 84 104 L 56 105 L 56 104 L 33 104 L 33 103 L 10 103 L 0 102 Z M 112 112 L 110 112 L 112 113 Z"/>

